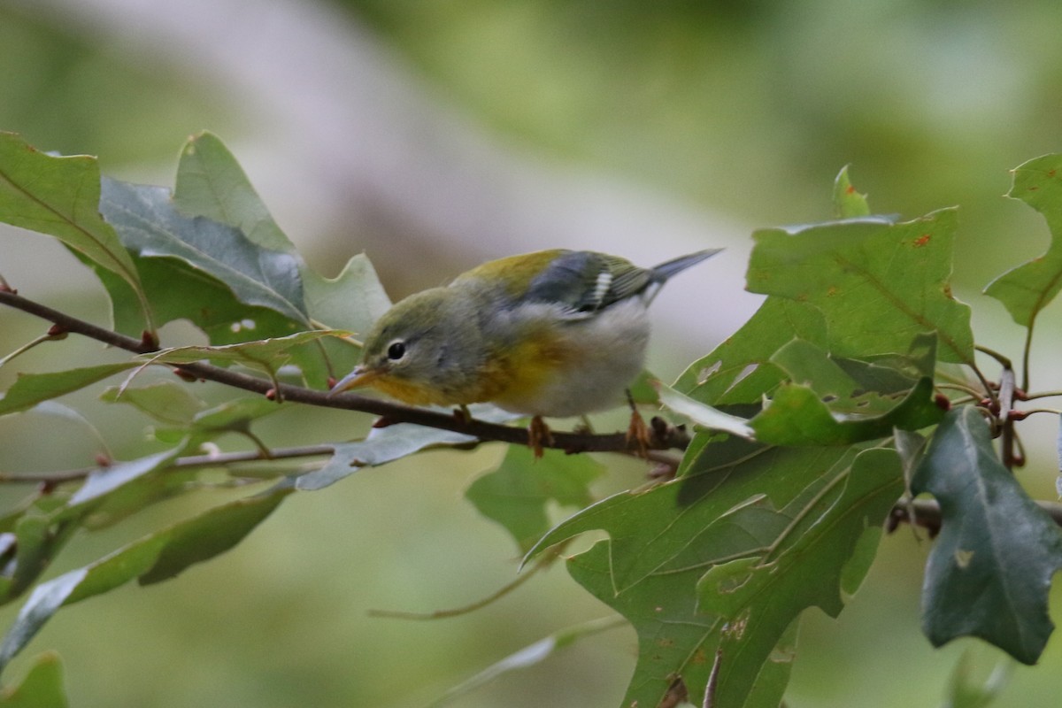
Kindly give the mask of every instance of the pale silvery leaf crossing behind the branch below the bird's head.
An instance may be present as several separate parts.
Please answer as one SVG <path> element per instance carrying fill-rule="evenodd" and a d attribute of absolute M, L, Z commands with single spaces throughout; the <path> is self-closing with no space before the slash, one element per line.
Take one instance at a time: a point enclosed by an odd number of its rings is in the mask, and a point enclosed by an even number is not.
<path fill-rule="evenodd" d="M 473 417 L 490 422 L 506 422 L 518 416 L 489 403 L 468 407 Z M 376 467 L 434 447 L 450 447 L 476 443 L 472 435 L 448 430 L 425 428 L 400 422 L 386 428 L 373 428 L 363 441 L 333 446 L 335 454 L 320 469 L 295 478 L 302 490 L 323 489 L 354 474 L 362 467 Z"/>

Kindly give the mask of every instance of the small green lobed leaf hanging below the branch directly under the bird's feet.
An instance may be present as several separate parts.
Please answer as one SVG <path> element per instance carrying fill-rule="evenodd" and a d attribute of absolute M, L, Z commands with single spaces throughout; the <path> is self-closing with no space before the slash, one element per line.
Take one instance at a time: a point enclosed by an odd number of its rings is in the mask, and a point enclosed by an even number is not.
<path fill-rule="evenodd" d="M 510 445 L 501 464 L 473 482 L 465 499 L 500 523 L 524 553 L 549 531 L 549 503 L 588 505 L 594 501 L 589 484 L 603 471 L 589 455 L 544 450 L 536 460 L 529 447 Z"/>

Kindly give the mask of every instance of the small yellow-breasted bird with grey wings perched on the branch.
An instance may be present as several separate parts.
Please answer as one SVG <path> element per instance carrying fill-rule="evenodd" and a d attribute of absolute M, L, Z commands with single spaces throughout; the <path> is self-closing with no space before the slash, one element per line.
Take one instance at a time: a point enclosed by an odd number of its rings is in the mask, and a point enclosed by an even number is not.
<path fill-rule="evenodd" d="M 365 339 L 361 363 L 331 391 L 369 385 L 465 414 L 470 403 L 492 402 L 532 416 L 529 442 L 541 455 L 550 439 L 544 417 L 622 402 L 645 365 L 649 304 L 668 278 L 720 251 L 650 269 L 560 248 L 483 263 L 395 304 Z M 648 439 L 636 411 L 629 434 Z"/>

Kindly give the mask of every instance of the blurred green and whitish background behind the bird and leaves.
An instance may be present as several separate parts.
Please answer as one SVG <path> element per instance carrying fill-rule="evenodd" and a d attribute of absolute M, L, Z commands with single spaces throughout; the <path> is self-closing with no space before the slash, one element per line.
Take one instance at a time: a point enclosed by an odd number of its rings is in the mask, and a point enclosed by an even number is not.
<path fill-rule="evenodd" d="M 0 128 L 164 185 L 185 137 L 210 129 L 311 263 L 332 275 L 366 251 L 393 297 L 546 246 L 648 264 L 725 245 L 700 279 L 676 279 L 657 300 L 664 378 L 755 307 L 741 292 L 749 234 L 829 218 L 832 180 L 851 163 L 878 210 L 961 207 L 956 290 L 979 341 L 1017 357 L 1023 332 L 979 290 L 1047 244 L 1040 218 L 1001 195 L 1008 170 L 1060 149 L 1060 30 L 1062 5 L 1049 0 L 0 0 Z M 0 228 L 0 273 L 31 297 L 106 318 L 99 286 L 42 237 Z M 1038 387 L 1059 387 L 1059 324 L 1041 324 Z M 39 331 L 0 311 L 0 350 Z M 99 356 L 84 342 L 52 345 L 0 370 L 0 387 L 14 369 Z M 119 456 L 148 449 L 136 416 L 89 396 L 67 402 L 106 416 Z M 365 425 L 296 415 L 260 433 L 294 444 Z M 1055 432 L 1030 433 L 1023 480 L 1050 498 Z M 69 420 L 0 424 L 3 471 L 80 467 L 97 449 Z M 76 706 L 425 705 L 606 614 L 554 569 L 458 619 L 366 615 L 462 605 L 514 577 L 513 546 L 461 499 L 499 455 L 432 453 L 296 495 L 222 558 L 63 610 L 13 675 L 53 647 Z M 643 480 L 638 465 L 606 462 L 602 494 Z M 232 494 L 78 539 L 55 572 Z M 805 616 L 788 705 L 936 706 L 963 652 L 975 678 L 991 670 L 998 653 L 976 641 L 935 651 L 921 636 L 926 553 L 902 529 L 839 621 Z M 16 610 L 0 611 L 4 626 Z M 616 706 L 634 657 L 633 633 L 613 631 L 455 705 Z M 1040 668 L 1015 669 L 997 705 L 1057 705 L 1060 659 L 1056 639 Z"/>

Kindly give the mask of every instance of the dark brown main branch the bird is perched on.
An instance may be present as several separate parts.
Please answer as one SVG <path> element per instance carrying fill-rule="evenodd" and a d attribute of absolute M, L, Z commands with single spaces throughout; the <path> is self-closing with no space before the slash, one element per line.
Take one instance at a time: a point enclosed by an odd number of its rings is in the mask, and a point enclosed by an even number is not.
<path fill-rule="evenodd" d="M 156 351 L 158 347 L 147 334 L 142 340 L 126 336 L 119 332 L 99 327 L 91 323 L 79 320 L 78 317 L 59 312 L 46 305 L 28 299 L 17 294 L 14 290 L 0 288 L 0 304 L 16 310 L 21 310 L 29 314 L 47 320 L 67 332 L 74 332 L 90 339 L 97 340 L 109 346 L 124 349 L 133 353 L 142 355 Z M 327 391 L 314 391 L 304 386 L 281 383 L 274 386 L 272 381 L 261 379 L 256 376 L 234 372 L 220 366 L 205 363 L 181 364 L 177 369 L 186 375 L 190 375 L 205 381 L 215 381 L 235 388 L 242 388 L 258 393 L 263 396 L 277 396 L 281 400 L 305 403 L 308 405 L 319 405 L 324 408 L 337 408 L 350 411 L 360 411 L 373 415 L 382 416 L 382 425 L 393 425 L 396 422 L 411 422 L 427 428 L 438 428 L 452 432 L 464 433 L 478 437 L 481 441 L 497 441 L 526 445 L 528 442 L 528 431 L 524 428 L 503 426 L 500 424 L 486 422 L 475 418 L 465 420 L 461 415 L 450 415 L 439 411 L 414 408 L 396 403 L 394 401 L 369 398 L 357 394 L 344 393 L 330 396 Z M 652 436 L 650 448 L 665 450 L 670 448 L 684 449 L 689 444 L 689 435 L 681 428 L 673 426 L 650 426 Z M 637 441 L 628 441 L 624 433 L 593 434 L 576 432 L 553 432 L 552 442 L 544 444 L 543 447 L 565 450 L 569 453 L 576 452 L 626 452 L 636 453 L 638 451 Z"/>

